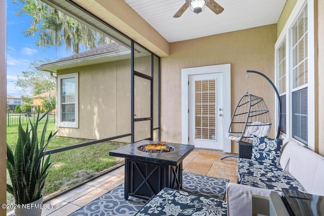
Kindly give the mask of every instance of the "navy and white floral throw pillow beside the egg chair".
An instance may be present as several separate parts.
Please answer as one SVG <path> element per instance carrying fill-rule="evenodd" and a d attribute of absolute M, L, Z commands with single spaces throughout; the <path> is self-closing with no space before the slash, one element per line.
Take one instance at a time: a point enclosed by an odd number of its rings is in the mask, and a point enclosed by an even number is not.
<path fill-rule="evenodd" d="M 281 148 L 282 139 L 254 136 L 251 159 L 279 165 Z"/>

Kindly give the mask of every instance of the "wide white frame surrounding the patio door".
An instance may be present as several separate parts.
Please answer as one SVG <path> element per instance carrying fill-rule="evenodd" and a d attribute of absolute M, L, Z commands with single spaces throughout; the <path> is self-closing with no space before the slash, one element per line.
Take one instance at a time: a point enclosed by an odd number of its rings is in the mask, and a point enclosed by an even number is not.
<path fill-rule="evenodd" d="M 181 143 L 188 144 L 189 137 L 189 76 L 207 73 L 223 73 L 223 110 L 231 110 L 231 65 L 211 65 L 181 69 Z M 231 122 L 231 112 L 223 112 L 223 129 L 225 132 Z M 231 141 L 223 133 L 223 151 L 231 152 Z"/>

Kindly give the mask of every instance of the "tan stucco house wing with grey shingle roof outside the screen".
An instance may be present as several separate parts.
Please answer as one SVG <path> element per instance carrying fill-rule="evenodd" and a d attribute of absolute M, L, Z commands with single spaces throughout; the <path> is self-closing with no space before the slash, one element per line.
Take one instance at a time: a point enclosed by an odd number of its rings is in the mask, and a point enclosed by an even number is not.
<path fill-rule="evenodd" d="M 112 42 L 37 68 L 57 73 L 59 136 L 103 139 L 129 133 L 130 55 L 129 48 Z M 150 61 L 147 53 L 145 56 L 139 61 Z M 147 87 L 146 82 L 136 89 L 147 90 Z M 145 116 L 149 111 L 142 107 L 149 103 L 149 99 L 141 99 L 142 102 L 136 105 L 137 116 Z M 147 138 L 147 134 L 141 131 L 137 134 L 140 138 Z M 122 141 L 129 142 L 129 139 Z"/>

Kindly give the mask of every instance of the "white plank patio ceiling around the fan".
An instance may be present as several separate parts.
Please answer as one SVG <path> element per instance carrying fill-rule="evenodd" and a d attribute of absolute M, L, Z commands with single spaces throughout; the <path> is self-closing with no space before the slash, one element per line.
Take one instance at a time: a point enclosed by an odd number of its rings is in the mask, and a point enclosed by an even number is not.
<path fill-rule="evenodd" d="M 274 24 L 286 4 L 286 0 L 216 0 L 224 8 L 219 15 L 207 7 L 198 15 L 188 8 L 173 18 L 185 0 L 124 1 L 169 42 Z"/>

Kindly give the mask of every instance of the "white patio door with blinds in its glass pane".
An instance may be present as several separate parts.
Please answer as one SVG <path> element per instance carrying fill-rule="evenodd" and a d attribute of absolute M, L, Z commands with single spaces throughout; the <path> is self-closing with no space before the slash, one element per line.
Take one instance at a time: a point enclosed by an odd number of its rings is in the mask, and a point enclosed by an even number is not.
<path fill-rule="evenodd" d="M 189 76 L 189 144 L 223 150 L 223 76 Z"/>

